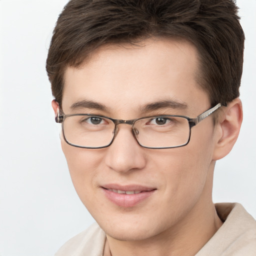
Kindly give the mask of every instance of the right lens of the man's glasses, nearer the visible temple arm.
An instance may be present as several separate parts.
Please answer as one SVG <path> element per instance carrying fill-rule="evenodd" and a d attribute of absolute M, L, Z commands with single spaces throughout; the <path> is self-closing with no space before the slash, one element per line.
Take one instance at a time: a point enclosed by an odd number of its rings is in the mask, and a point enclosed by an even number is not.
<path fill-rule="evenodd" d="M 137 120 L 133 128 L 140 145 L 162 148 L 184 145 L 189 139 L 189 123 L 184 117 L 157 116 Z"/>

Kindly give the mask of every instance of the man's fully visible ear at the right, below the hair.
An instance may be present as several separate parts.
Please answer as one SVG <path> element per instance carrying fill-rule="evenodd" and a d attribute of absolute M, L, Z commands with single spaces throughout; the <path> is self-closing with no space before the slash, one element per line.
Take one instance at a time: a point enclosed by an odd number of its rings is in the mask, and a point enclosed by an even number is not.
<path fill-rule="evenodd" d="M 216 142 L 213 151 L 213 160 L 218 160 L 227 155 L 240 131 L 242 123 L 242 104 L 239 98 L 222 107 L 222 113 L 216 124 Z"/>

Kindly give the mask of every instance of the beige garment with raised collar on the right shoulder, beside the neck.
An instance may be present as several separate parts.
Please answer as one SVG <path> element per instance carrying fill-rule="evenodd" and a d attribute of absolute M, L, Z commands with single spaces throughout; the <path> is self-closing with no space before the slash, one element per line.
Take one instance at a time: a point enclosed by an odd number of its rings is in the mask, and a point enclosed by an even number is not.
<path fill-rule="evenodd" d="M 255 219 L 239 203 L 217 203 L 215 208 L 223 224 L 196 256 L 254 256 Z"/>

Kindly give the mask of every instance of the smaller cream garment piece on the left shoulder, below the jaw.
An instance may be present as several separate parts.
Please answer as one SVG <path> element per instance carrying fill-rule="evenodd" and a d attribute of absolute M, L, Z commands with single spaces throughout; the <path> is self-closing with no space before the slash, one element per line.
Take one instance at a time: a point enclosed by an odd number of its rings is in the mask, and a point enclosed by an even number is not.
<path fill-rule="evenodd" d="M 65 242 L 55 256 L 99 256 L 103 253 L 105 233 L 97 223 Z"/>

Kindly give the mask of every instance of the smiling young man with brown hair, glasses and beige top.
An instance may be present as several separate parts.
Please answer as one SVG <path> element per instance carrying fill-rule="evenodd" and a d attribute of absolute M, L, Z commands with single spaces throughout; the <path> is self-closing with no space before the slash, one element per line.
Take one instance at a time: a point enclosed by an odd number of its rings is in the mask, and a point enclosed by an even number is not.
<path fill-rule="evenodd" d="M 255 220 L 211 199 L 242 121 L 243 41 L 231 0 L 67 3 L 46 69 L 97 224 L 56 255 L 255 255 Z"/>

